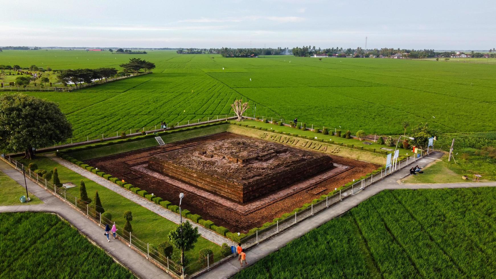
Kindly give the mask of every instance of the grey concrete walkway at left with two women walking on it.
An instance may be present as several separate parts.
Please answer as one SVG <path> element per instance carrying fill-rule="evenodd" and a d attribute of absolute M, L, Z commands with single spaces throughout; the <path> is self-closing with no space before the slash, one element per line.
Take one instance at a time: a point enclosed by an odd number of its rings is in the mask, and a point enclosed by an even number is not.
<path fill-rule="evenodd" d="M 24 176 L 19 171 L 10 167 L 8 164 L 0 160 L 0 170 L 14 179 L 20 185 L 24 185 Z M 38 205 L 13 205 L 0 206 L 1 212 L 51 212 L 56 213 L 63 219 L 76 227 L 79 232 L 89 238 L 90 241 L 100 246 L 120 264 L 129 269 L 136 277 L 142 279 L 171 279 L 165 271 L 148 261 L 138 252 L 131 249 L 124 242 L 111 238 L 107 242 L 107 237 L 103 235 L 104 229 L 90 219 L 84 218 L 76 209 L 72 208 L 62 200 L 52 195 L 50 192 L 34 183 L 30 179 L 26 179 L 28 190 L 36 195 L 44 204 Z"/>

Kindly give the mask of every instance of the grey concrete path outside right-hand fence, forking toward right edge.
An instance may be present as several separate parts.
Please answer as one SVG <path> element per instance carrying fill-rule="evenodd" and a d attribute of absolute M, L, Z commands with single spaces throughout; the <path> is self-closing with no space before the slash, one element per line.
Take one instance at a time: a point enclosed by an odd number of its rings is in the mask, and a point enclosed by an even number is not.
<path fill-rule="evenodd" d="M 365 188 L 364 190 L 358 192 L 352 197 L 348 197 L 341 202 L 330 206 L 318 214 L 295 224 L 294 226 L 288 228 L 287 230 L 275 235 L 274 237 L 267 239 L 251 248 L 246 252 L 248 266 L 253 265 L 257 261 L 263 259 L 265 256 L 273 253 L 288 242 L 297 239 L 309 232 L 310 230 L 319 227 L 320 225 L 327 223 L 328 221 L 346 213 L 353 207 L 357 206 L 361 202 L 369 199 L 373 195 L 379 193 L 382 190 L 390 189 L 440 189 L 440 188 L 469 188 L 469 187 L 485 187 L 485 186 L 496 186 L 496 182 L 467 182 L 467 183 L 441 183 L 441 184 L 422 184 L 422 185 L 399 185 L 397 183 L 398 179 L 401 179 L 410 174 L 410 167 L 419 165 L 420 167 L 425 167 L 429 163 L 435 161 L 442 157 L 442 153 L 434 152 L 431 156 L 412 162 L 409 167 L 404 167 L 401 170 L 387 176 L 381 181 L 376 182 L 372 186 Z M 230 260 L 224 262 L 223 264 L 217 266 L 209 272 L 206 272 L 199 276 L 198 278 L 211 279 L 211 278 L 230 278 L 236 273 L 245 269 L 246 266 L 240 268 L 240 262 L 238 257 L 231 258 Z"/>

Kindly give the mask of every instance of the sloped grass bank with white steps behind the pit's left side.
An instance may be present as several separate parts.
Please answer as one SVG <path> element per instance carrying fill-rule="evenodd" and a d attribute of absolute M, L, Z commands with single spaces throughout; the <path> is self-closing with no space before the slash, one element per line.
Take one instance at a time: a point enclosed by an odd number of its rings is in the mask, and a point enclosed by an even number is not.
<path fill-rule="evenodd" d="M 208 125 L 208 124 L 207 124 Z M 180 140 L 186 140 L 195 137 L 202 137 L 206 135 L 211 135 L 215 133 L 224 132 L 227 129 L 229 124 L 221 124 L 221 125 L 211 125 L 211 126 L 199 126 L 197 129 L 189 129 L 185 131 L 180 131 L 176 133 L 165 133 L 159 134 L 162 137 L 164 143 L 171 143 Z M 102 145 L 101 147 L 98 147 Z M 79 146 L 75 148 L 71 148 L 73 151 L 67 153 L 73 158 L 84 161 L 89 159 L 94 159 L 98 157 L 105 157 L 109 155 L 115 155 L 119 153 L 129 152 L 141 148 L 147 148 L 152 146 L 157 146 L 157 140 L 155 138 L 146 138 L 143 140 L 137 140 L 132 142 L 125 142 L 115 144 L 115 145 L 106 145 L 105 143 L 95 144 L 95 148 L 84 149 L 78 151 L 79 148 L 87 146 Z M 63 150 L 62 150 L 63 151 Z"/>

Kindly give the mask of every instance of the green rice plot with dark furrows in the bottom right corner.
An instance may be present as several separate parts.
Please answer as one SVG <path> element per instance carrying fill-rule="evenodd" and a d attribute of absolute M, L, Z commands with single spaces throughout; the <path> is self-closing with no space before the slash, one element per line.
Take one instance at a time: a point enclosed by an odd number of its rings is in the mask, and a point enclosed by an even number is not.
<path fill-rule="evenodd" d="M 493 278 L 495 198 L 491 187 L 383 191 L 234 278 Z"/>

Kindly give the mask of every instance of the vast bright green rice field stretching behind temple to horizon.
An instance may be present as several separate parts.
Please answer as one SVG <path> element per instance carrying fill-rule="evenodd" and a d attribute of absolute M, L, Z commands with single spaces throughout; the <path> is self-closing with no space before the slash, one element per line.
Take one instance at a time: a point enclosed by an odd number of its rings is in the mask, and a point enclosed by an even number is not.
<path fill-rule="evenodd" d="M 329 128 L 399 134 L 401 122 L 443 132 L 494 131 L 496 65 L 429 60 L 219 55 L 149 51 L 153 74 L 72 93 L 33 92 L 58 102 L 82 140 L 129 128 L 230 113 L 237 98 L 253 115 Z M 86 51 L 3 51 L 0 64 L 53 69 L 119 67 L 131 55 Z M 212 58 L 213 57 L 213 58 Z M 224 68 L 224 69 L 223 69 Z M 251 79 L 251 81 L 250 81 Z M 435 118 L 434 118 L 435 117 Z"/>

